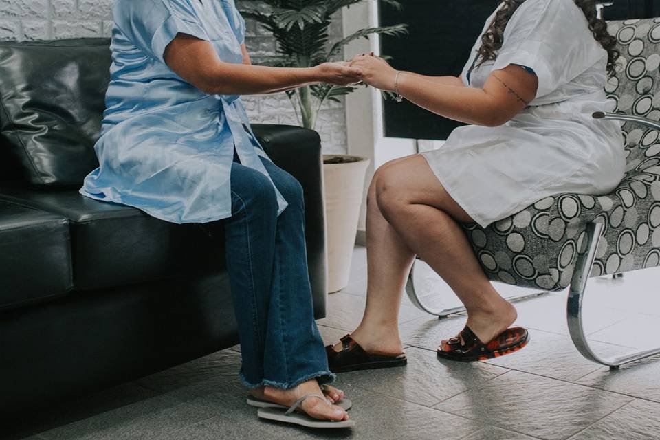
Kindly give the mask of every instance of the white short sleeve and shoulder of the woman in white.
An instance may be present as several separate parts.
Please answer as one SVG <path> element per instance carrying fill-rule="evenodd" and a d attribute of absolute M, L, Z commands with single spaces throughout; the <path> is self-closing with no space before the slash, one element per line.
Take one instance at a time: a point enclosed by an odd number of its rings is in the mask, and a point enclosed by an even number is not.
<path fill-rule="evenodd" d="M 573 0 L 527 0 L 505 28 L 493 70 L 511 64 L 533 69 L 540 98 L 593 65 L 594 56 L 602 56 L 596 44 Z"/>

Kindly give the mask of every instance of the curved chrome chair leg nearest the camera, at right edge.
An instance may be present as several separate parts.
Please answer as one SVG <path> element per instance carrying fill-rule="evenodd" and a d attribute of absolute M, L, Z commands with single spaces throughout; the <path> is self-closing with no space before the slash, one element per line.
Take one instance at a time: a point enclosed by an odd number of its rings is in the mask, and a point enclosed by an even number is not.
<path fill-rule="evenodd" d="M 601 223 L 589 223 L 586 228 L 587 233 L 587 248 L 586 251 L 577 256 L 577 264 L 575 265 L 575 272 L 573 272 L 573 279 L 571 280 L 571 287 L 569 288 L 569 298 L 566 304 L 566 319 L 568 320 L 569 333 L 573 344 L 582 355 L 588 360 L 598 362 L 599 364 L 610 366 L 610 369 L 618 369 L 620 365 L 634 362 L 643 358 L 660 353 L 660 347 L 657 349 L 638 351 L 628 355 L 615 356 L 613 358 L 603 358 L 595 353 L 589 346 L 584 333 L 584 325 L 582 322 L 582 302 L 584 300 L 584 292 L 586 290 L 586 283 L 589 275 L 591 274 L 591 267 L 596 256 L 596 248 L 602 233 L 603 225 Z"/>

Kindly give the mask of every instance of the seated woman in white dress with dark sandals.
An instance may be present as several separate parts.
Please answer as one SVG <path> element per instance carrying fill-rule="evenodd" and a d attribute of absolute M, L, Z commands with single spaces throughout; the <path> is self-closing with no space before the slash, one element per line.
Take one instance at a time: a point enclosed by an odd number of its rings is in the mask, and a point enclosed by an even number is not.
<path fill-rule="evenodd" d="M 527 343 L 525 329 L 509 328 L 516 309 L 489 282 L 459 223 L 485 227 L 550 195 L 602 195 L 619 184 L 621 127 L 591 118 L 613 107 L 604 85 L 614 45 L 593 0 L 503 0 L 458 78 L 354 58 L 369 85 L 472 125 L 437 151 L 376 171 L 367 202 L 366 310 L 358 329 L 327 347 L 333 371 L 406 363 L 397 316 L 416 254 L 467 308 L 465 329 L 441 342 L 439 356 L 483 360 Z"/>

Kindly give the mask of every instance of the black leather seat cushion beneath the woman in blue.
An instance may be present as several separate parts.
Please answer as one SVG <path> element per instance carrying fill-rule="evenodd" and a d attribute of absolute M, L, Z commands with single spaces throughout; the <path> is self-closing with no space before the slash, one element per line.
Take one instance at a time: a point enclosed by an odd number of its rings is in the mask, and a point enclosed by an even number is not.
<path fill-rule="evenodd" d="M 69 219 L 76 290 L 225 267 L 224 240 L 210 240 L 195 223 L 168 223 L 129 206 L 84 197 L 77 190 L 5 189 L 0 197 Z"/>

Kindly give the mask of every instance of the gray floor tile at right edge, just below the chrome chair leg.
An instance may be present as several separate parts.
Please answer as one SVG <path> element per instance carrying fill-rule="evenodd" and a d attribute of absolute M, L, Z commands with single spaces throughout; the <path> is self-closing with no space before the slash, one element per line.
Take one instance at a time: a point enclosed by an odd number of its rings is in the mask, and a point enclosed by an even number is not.
<path fill-rule="evenodd" d="M 660 402 L 660 355 L 623 365 L 619 370 L 601 367 L 577 382 Z"/>

